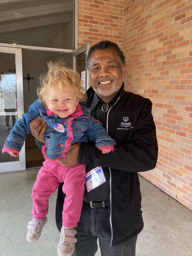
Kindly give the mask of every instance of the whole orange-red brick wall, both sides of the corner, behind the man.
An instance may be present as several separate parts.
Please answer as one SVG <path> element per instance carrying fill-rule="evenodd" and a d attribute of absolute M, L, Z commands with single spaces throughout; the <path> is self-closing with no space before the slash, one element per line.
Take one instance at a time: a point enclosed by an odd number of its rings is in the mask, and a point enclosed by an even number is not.
<path fill-rule="evenodd" d="M 192 2 L 79 1 L 78 37 L 122 47 L 125 89 L 151 99 L 157 127 L 157 166 L 140 174 L 192 209 Z"/>

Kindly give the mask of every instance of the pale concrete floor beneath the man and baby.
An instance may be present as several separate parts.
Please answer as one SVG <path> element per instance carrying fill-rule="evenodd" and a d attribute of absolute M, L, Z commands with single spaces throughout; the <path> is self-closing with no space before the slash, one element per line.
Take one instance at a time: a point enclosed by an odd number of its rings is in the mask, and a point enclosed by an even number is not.
<path fill-rule="evenodd" d="M 32 219 L 31 191 L 37 172 L 0 174 L 0 256 L 58 255 L 56 192 L 49 200 L 48 222 L 41 238 L 35 243 L 26 241 L 26 226 Z M 143 177 L 140 182 L 144 229 L 138 236 L 136 255 L 192 256 L 192 212 Z M 99 250 L 95 256 L 101 256 Z"/>

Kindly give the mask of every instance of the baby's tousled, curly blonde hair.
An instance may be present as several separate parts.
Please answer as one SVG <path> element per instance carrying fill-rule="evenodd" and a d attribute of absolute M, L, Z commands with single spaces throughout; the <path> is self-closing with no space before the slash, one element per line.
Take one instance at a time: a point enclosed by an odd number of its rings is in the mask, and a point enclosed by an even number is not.
<path fill-rule="evenodd" d="M 62 92 L 63 85 L 73 89 L 79 102 L 84 102 L 87 95 L 82 87 L 82 82 L 79 74 L 73 69 L 67 68 L 63 61 L 47 62 L 48 70 L 40 75 L 40 85 L 37 89 L 39 101 L 46 104 L 49 90 L 55 85 Z"/>

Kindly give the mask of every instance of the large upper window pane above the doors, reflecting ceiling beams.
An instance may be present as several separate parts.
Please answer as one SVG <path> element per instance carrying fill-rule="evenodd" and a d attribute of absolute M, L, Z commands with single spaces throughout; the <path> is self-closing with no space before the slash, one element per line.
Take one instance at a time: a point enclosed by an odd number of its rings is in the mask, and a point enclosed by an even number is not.
<path fill-rule="evenodd" d="M 74 50 L 74 0 L 0 1 L 0 42 Z"/>

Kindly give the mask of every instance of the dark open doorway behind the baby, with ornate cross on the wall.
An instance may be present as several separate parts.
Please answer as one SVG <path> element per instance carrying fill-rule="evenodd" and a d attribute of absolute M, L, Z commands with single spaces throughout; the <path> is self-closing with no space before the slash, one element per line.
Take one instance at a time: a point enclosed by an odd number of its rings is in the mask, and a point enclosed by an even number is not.
<path fill-rule="evenodd" d="M 28 112 L 29 106 L 37 99 L 37 87 L 39 76 L 46 72 L 46 63 L 58 59 L 64 59 L 66 65 L 73 68 L 73 53 L 45 52 L 35 50 L 22 50 L 22 74 L 23 77 L 23 104 L 24 112 Z M 29 74 L 29 75 L 28 75 Z M 30 79 L 30 80 L 29 80 Z M 44 157 L 35 143 L 32 134 L 27 134 L 25 141 L 26 168 L 41 167 Z"/>

